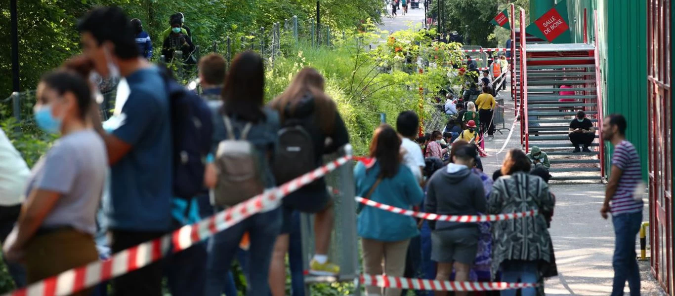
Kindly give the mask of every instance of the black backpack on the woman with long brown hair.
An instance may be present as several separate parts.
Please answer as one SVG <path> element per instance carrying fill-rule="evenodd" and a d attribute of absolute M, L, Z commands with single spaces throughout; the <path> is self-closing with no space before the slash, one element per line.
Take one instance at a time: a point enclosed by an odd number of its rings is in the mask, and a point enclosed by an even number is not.
<path fill-rule="evenodd" d="M 286 115 L 289 113 L 288 109 L 284 109 Z M 317 168 L 314 140 L 308 129 L 314 122 L 314 114 L 304 118 L 284 118 L 284 124 L 277 133 L 279 145 L 272 166 L 277 185 Z"/>

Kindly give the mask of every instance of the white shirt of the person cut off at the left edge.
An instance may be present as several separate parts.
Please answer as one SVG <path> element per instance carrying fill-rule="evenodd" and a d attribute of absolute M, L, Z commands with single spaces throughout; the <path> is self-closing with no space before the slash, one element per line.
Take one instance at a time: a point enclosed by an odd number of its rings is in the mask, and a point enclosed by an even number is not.
<path fill-rule="evenodd" d="M 29 176 L 24 158 L 0 129 L 0 206 L 15 206 L 24 201 Z"/>

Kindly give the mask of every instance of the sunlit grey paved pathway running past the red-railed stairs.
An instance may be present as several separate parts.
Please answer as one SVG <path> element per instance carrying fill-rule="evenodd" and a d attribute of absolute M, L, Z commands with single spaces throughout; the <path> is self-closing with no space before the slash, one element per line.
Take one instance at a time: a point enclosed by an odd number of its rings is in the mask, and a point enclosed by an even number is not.
<path fill-rule="evenodd" d="M 389 8 L 389 13 L 391 9 Z M 423 22 L 424 9 L 410 10 L 398 18 L 387 18 L 383 22 L 384 30 L 404 30 L 410 22 Z M 512 106 L 510 89 L 502 92 L 506 105 Z M 505 112 L 506 128 L 515 128 L 506 148 L 502 148 L 508 136 L 508 130 L 499 134 L 495 131 L 495 140 L 486 142 L 485 150 L 489 157 L 483 158 L 485 173 L 499 169 L 506 155 L 512 148 L 520 148 L 520 125 L 514 123 L 513 111 Z M 497 127 L 502 127 L 501 124 Z M 609 295 L 612 291 L 612 254 L 614 252 L 614 229 L 612 220 L 603 220 L 599 208 L 603 202 L 605 185 L 602 183 L 551 184 L 556 194 L 556 212 L 551 223 L 551 237 L 556 251 L 559 276 L 550 278 L 545 283 L 547 295 Z M 645 205 L 647 201 L 645 200 Z M 643 220 L 648 220 L 647 207 L 643 212 Z M 648 239 L 649 241 L 649 239 Z M 639 251 L 639 241 L 636 249 Z M 649 251 L 648 251 L 649 254 Z M 642 274 L 642 295 L 665 295 L 649 272 L 649 262 L 640 262 Z M 628 287 L 625 289 L 628 295 Z"/>

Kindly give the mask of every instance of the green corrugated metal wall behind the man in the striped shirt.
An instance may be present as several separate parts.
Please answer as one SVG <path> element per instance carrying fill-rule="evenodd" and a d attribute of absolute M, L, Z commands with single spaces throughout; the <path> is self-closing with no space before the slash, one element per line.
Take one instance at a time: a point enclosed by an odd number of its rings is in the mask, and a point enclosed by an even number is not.
<path fill-rule="evenodd" d="M 539 1 L 539 0 L 531 0 Z M 611 5 L 610 5 L 611 3 Z M 635 145 L 647 181 L 647 4 L 644 0 L 568 0 L 572 40 L 583 42 L 583 13 L 587 9 L 589 42 L 600 48 L 605 114 L 621 113 L 628 121 L 626 138 Z M 594 36 L 593 9 L 599 35 Z M 574 20 L 576 19 L 576 23 Z M 607 172 L 612 147 L 606 150 Z"/>

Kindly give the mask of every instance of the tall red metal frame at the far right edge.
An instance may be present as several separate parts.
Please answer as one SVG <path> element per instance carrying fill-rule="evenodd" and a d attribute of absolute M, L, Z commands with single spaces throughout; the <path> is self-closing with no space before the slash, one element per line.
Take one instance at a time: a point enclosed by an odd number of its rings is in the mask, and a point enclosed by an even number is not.
<path fill-rule="evenodd" d="M 647 110 L 649 110 L 649 241 L 651 271 L 674 293 L 672 203 L 672 92 L 670 0 L 647 4 Z"/>

